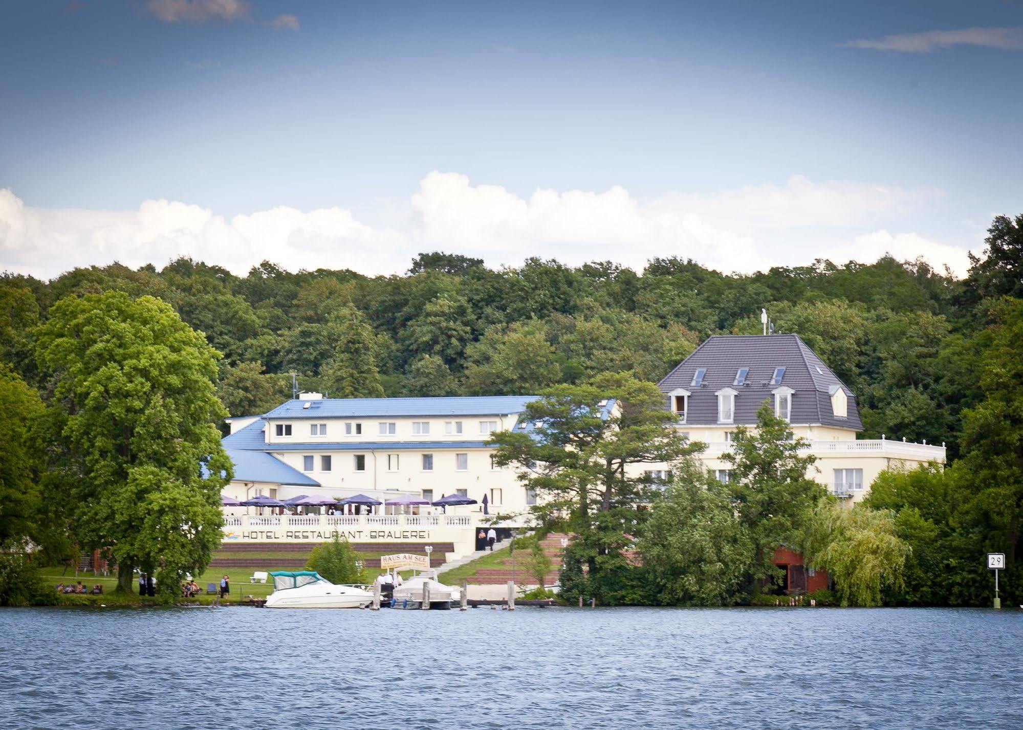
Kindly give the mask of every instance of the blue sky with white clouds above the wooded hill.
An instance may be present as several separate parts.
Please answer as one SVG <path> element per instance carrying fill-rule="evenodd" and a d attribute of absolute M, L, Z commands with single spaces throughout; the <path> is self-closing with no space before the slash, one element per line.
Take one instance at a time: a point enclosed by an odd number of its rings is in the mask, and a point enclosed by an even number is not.
<path fill-rule="evenodd" d="M 46 0 L 0 22 L 0 270 L 418 252 L 725 272 L 1023 213 L 1023 0 Z"/>

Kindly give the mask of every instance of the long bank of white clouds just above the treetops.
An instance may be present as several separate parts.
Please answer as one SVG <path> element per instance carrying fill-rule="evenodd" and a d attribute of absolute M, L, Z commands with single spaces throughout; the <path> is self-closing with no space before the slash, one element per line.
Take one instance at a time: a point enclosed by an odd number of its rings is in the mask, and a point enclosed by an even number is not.
<path fill-rule="evenodd" d="M 444 249 L 482 257 L 491 266 L 540 256 L 641 269 L 653 257 L 678 256 L 746 272 L 817 258 L 874 261 L 891 253 L 923 256 L 963 274 L 964 248 L 906 232 L 899 223 L 938 194 L 794 177 L 784 185 L 649 201 L 619 186 L 604 192 L 538 189 L 521 197 L 435 171 L 411 196 L 409 215 L 395 217 L 400 227 L 385 230 L 343 208 L 280 207 L 228 219 L 169 200 L 145 200 L 137 211 L 38 209 L 0 190 L 0 269 L 48 278 L 75 266 L 161 266 L 190 256 L 239 274 L 263 260 L 291 270 L 387 274 L 406 269 L 418 252 Z"/>

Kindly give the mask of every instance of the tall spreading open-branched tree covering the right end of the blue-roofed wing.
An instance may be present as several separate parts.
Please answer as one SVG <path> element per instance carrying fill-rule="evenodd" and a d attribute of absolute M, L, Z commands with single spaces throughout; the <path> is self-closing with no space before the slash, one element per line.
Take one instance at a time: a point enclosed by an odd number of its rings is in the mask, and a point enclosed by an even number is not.
<path fill-rule="evenodd" d="M 673 463 L 702 445 L 673 427 L 657 386 L 629 372 L 557 385 L 542 396 L 521 415 L 526 428 L 492 437 L 495 459 L 515 465 L 523 486 L 537 494 L 533 512 L 540 520 L 566 522 L 575 533 L 566 595 L 585 591 L 614 601 L 628 569 L 623 550 L 647 512 L 637 507 L 653 490 L 641 465 Z"/>

